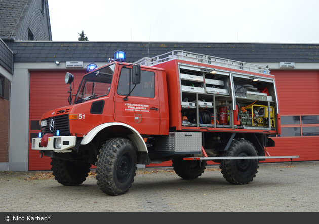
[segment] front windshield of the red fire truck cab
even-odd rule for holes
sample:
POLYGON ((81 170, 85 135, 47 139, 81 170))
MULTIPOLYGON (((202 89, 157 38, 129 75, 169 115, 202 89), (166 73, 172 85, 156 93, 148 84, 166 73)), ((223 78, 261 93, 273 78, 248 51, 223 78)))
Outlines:
POLYGON ((115 64, 95 70, 82 78, 74 103, 106 96, 110 92, 115 64))

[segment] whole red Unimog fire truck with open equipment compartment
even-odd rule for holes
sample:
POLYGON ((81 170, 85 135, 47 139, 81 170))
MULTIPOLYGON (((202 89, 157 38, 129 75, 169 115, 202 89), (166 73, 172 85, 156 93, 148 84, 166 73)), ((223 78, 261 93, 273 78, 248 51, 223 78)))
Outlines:
POLYGON ((69 105, 43 114, 32 149, 52 159, 62 185, 79 185, 96 165, 108 195, 131 187, 137 164, 172 161, 178 176, 202 175, 220 163, 232 184, 248 184, 280 134, 275 77, 268 67, 185 51, 135 63, 117 51, 109 64, 87 66, 69 105), (73 100, 74 98, 74 100, 73 100))

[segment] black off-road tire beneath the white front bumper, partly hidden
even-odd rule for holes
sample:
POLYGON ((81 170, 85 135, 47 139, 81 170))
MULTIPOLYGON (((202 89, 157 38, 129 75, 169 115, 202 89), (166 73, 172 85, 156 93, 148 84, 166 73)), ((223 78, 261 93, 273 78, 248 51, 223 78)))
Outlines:
POLYGON ((90 172, 90 163, 52 159, 51 170, 55 180, 65 186, 82 184, 90 172))

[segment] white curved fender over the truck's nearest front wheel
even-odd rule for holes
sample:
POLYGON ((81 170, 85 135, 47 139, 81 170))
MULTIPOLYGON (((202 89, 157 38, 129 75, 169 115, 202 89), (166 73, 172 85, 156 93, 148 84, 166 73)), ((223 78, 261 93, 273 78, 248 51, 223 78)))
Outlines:
POLYGON ((143 137, 140 135, 140 133, 137 130, 135 130, 133 127, 131 127, 130 125, 127 125, 124 123, 119 123, 119 122, 105 123, 105 124, 101 124, 99 126, 96 126, 92 130, 90 130, 89 133, 87 133, 87 135, 83 136, 83 139, 82 139, 80 144, 86 145, 86 144, 90 143, 92 141, 92 139, 97 135, 97 133, 99 133, 101 130, 103 130, 107 127, 111 127, 111 126, 124 126, 128 129, 130 129, 133 134, 128 135, 128 136, 129 136, 130 140, 133 142, 133 144, 137 147, 137 150, 148 153, 145 141, 144 141, 143 137))

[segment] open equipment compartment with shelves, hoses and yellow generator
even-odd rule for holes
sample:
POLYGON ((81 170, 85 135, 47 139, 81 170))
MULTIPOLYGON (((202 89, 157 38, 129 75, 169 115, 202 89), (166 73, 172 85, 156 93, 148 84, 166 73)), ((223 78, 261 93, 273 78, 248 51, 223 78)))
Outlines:
POLYGON ((182 126, 207 128, 264 129, 276 128, 275 85, 271 78, 231 73, 183 64, 181 83, 182 126), (274 100, 274 101, 272 101, 274 100), (254 105, 254 106, 252 106, 254 105), (255 105, 267 115, 252 111, 255 105), (268 109, 269 108, 269 109, 268 109), (258 117, 259 116, 259 117, 258 117))

